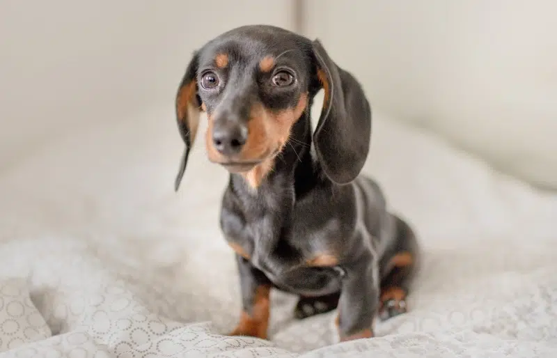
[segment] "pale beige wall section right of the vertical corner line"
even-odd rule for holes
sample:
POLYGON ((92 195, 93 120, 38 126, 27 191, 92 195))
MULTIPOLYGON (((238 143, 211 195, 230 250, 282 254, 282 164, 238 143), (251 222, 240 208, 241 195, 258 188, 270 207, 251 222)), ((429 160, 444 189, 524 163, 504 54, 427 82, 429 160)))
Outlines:
POLYGON ((557 188, 557 2, 307 0, 375 107, 557 188))

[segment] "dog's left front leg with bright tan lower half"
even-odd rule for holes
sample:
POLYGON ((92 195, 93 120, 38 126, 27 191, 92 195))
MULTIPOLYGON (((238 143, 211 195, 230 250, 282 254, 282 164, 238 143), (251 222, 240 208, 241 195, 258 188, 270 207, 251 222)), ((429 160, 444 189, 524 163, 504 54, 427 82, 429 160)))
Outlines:
POLYGON ((267 339, 271 282, 249 260, 236 255, 236 261, 240 274, 242 313, 240 322, 229 335, 267 339))

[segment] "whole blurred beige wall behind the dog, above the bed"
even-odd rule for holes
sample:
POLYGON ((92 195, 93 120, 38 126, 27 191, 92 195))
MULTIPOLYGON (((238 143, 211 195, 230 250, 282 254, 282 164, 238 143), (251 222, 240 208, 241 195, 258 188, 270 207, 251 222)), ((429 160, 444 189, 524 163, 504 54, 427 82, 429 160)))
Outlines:
POLYGON ((320 38, 376 109, 556 189, 556 12, 551 0, 3 0, 0 170, 53 134, 171 106, 196 47, 262 23, 320 38))

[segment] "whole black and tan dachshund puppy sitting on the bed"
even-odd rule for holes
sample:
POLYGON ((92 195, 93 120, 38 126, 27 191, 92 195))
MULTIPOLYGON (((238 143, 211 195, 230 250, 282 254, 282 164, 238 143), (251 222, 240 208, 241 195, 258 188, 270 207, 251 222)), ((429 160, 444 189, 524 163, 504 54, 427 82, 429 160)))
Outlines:
POLYGON ((240 26, 194 52, 175 97, 185 173, 201 112, 210 162, 229 173, 220 228, 235 251, 242 312, 230 335, 267 339, 269 292, 299 296, 295 317, 337 309, 340 341, 374 336, 407 312, 418 269, 413 229, 360 175, 372 112, 319 39, 240 26), (324 92, 320 118, 310 109, 324 92))

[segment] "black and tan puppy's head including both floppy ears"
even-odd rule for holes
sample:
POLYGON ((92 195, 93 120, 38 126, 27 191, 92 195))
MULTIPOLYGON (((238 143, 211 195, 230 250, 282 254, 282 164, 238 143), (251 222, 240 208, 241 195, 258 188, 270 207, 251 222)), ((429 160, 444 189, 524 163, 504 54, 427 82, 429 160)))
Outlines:
POLYGON ((191 59, 176 96, 186 144, 176 189, 201 111, 209 120, 210 161, 256 186, 320 88, 325 99, 315 152, 327 176, 344 184, 361 171, 370 142, 370 107, 354 77, 329 59, 319 41, 273 26, 242 26, 208 42, 191 59))

